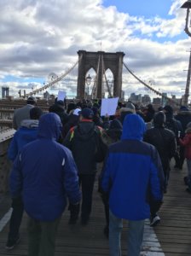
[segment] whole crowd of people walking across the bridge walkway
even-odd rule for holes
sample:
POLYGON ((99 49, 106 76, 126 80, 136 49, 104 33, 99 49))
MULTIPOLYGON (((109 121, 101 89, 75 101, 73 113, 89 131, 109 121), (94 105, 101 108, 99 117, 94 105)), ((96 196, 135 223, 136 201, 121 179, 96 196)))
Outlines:
POLYGON ((101 116, 101 101, 55 100, 49 113, 35 98, 14 112, 14 137, 8 156, 13 161, 9 184, 13 212, 7 249, 20 241, 25 210, 28 255, 52 256, 61 214, 68 224, 89 223, 96 176, 105 209, 104 233, 111 256, 121 255, 123 219, 129 220, 128 255, 140 255, 144 220, 159 224, 159 208, 167 193, 171 159, 182 169, 191 193, 191 112, 170 105, 154 109, 119 102, 113 116, 101 116), (97 163, 102 162, 101 172, 97 163), (98 173, 98 174, 97 174, 98 173), (68 203, 67 203, 68 202, 68 203))

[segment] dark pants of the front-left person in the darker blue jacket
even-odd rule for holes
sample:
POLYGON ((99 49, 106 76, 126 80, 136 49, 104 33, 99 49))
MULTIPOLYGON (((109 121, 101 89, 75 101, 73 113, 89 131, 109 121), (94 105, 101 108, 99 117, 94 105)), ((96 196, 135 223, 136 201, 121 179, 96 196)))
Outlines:
POLYGON ((54 256, 55 236, 61 217, 53 221, 28 220, 28 256, 54 256))

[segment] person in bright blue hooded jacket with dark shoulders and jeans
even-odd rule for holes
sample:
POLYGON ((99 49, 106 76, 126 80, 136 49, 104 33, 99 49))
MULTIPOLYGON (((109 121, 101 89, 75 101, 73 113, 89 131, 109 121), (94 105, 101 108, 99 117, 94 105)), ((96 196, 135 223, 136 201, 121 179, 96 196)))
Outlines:
POLYGON ((141 252, 144 220, 150 217, 151 201, 163 199, 164 174, 153 145, 142 142, 143 119, 130 113, 124 119, 121 141, 109 147, 101 187, 109 193, 110 256, 121 255, 123 218, 129 220, 128 255, 141 252))

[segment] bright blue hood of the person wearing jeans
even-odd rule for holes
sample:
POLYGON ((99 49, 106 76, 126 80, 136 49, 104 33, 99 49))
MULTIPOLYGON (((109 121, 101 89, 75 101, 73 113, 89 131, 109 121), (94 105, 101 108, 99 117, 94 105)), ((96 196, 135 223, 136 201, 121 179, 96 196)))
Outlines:
POLYGON ((136 113, 125 116, 121 140, 142 140, 146 125, 142 117, 136 113))

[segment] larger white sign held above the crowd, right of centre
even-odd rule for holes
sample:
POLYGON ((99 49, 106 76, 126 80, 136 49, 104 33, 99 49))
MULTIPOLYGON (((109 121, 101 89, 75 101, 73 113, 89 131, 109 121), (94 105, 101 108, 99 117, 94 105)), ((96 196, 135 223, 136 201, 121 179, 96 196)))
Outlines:
POLYGON ((118 107, 119 97, 101 99, 101 116, 114 115, 118 107))

